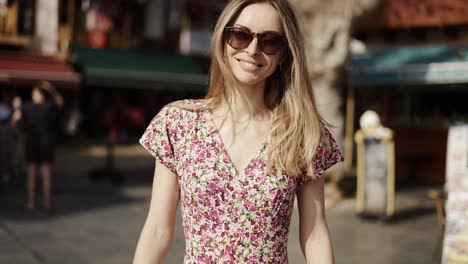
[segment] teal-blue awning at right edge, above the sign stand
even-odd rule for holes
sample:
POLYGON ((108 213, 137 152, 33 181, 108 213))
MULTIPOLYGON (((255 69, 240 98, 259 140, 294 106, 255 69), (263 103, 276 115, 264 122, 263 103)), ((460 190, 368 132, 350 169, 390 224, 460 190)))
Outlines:
POLYGON ((468 83, 468 46, 373 49, 349 66, 357 86, 468 83))

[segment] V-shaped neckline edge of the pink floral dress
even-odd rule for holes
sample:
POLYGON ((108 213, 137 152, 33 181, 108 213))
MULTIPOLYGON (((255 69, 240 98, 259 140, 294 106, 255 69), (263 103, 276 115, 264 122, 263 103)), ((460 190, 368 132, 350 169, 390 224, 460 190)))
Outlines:
POLYGON ((231 158, 231 155, 229 154, 229 152, 227 151, 227 148, 226 148, 226 145, 224 144, 224 140, 223 138, 221 137, 221 133, 219 131, 219 128, 218 126, 216 125, 216 122, 214 120, 214 117, 213 117, 213 112, 210 108, 207 108, 207 115, 208 115, 208 120, 212 126, 212 129, 213 129, 213 132, 214 134, 216 134, 216 139, 218 140, 218 143, 221 147, 221 152, 222 154, 226 157, 226 159, 228 160, 229 162, 229 165, 230 167, 232 167, 236 173, 236 175, 240 176, 242 174, 245 173, 245 171, 250 167, 250 165, 255 161, 257 160, 263 153, 263 151, 267 148, 268 146, 268 143, 270 142, 270 133, 268 133, 268 135, 266 136, 266 138, 262 141, 262 143, 260 144, 260 146, 257 148, 257 150, 255 152, 252 152, 252 154, 250 154, 250 157, 249 159, 247 160, 247 162, 245 164, 241 164, 242 167, 241 168, 238 168, 236 167, 236 165, 234 164, 232 158, 231 158))

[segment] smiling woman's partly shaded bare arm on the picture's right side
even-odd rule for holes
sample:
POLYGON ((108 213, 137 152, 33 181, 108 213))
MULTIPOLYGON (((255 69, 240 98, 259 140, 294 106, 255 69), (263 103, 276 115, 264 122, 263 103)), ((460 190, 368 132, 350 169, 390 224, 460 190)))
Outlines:
POLYGON ((324 182, 312 180, 297 192, 299 239, 307 264, 334 263, 333 247, 325 220, 324 182))

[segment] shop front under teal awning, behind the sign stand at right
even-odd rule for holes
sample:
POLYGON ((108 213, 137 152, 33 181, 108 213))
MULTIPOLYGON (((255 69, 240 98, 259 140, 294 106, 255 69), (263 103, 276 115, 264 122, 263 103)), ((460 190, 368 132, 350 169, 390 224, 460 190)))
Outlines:
POLYGON ((397 186, 443 184, 448 127, 468 120, 468 46, 373 49, 349 66, 347 131, 376 111, 395 133, 397 186))

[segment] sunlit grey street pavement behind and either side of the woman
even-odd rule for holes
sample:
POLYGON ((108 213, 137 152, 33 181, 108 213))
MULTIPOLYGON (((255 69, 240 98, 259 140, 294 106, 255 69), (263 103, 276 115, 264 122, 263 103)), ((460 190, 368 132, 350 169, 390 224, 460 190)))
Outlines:
MULTIPOLYGON (((89 171, 104 164, 103 148, 59 149, 51 215, 21 210, 24 188, 19 179, 13 179, 9 189, 2 186, 0 263, 131 263, 147 214, 154 160, 137 145, 120 146, 115 153, 117 167, 125 175, 121 186, 107 179, 92 183, 88 178, 89 171)), ((180 221, 178 215, 165 263, 183 262, 180 221)), ((357 217, 352 199, 332 203, 327 221, 338 264, 432 263, 439 227, 423 189, 397 192, 393 222, 357 217)), ((304 263, 297 212, 290 230, 289 262, 304 263)))

